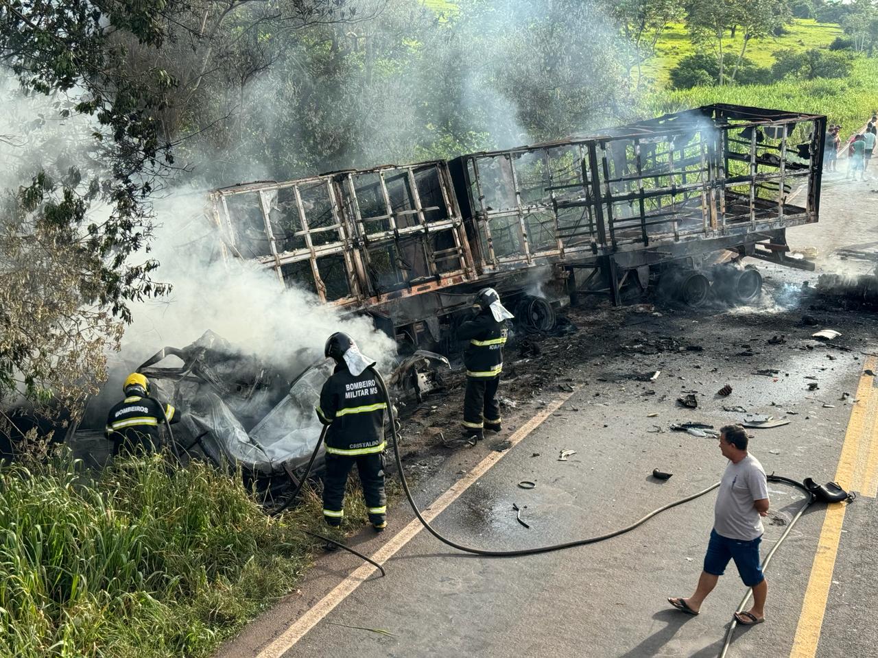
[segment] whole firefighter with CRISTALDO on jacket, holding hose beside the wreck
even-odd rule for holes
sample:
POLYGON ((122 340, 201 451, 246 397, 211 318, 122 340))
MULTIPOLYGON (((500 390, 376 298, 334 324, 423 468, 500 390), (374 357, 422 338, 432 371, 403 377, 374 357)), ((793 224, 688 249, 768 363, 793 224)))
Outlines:
POLYGON ((376 375, 375 361, 360 353, 347 333, 332 334, 324 349, 335 361, 335 371, 320 390, 317 417, 329 426, 326 434, 326 478, 323 519, 337 527, 344 518, 344 487, 350 468, 363 483, 369 520, 376 532, 387 526, 385 497, 385 411, 387 401, 376 375))

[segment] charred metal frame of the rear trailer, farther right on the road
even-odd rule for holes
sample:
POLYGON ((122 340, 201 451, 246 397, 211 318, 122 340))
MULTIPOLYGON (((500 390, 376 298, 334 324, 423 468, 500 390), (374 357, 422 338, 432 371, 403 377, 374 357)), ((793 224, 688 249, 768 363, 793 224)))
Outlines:
POLYGON ((825 117, 715 104, 601 136, 450 162, 483 275, 550 262, 631 275, 731 249, 787 258, 789 226, 817 221, 825 117), (788 203, 804 191, 805 205, 788 203))

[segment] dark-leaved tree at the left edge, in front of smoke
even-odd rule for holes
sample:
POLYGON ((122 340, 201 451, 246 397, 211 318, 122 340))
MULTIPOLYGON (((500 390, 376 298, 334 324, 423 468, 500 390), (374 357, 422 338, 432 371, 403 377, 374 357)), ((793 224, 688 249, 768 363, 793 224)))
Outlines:
POLYGON ((129 75, 119 44, 126 33, 160 46, 163 6, 0 0, 0 60, 25 91, 54 98, 55 120, 88 118, 91 132, 72 158, 28 152, 30 133, 40 132, 32 118, 17 135, 21 152, 6 175, 24 184, 7 192, 0 228, 0 400, 16 389, 35 400, 76 397, 85 361, 100 373, 103 348, 130 318, 127 304, 164 291, 150 279, 157 263, 133 258, 151 232, 148 194, 172 163, 155 112, 174 81, 160 68, 129 75), (96 202, 99 218, 88 215, 96 202))

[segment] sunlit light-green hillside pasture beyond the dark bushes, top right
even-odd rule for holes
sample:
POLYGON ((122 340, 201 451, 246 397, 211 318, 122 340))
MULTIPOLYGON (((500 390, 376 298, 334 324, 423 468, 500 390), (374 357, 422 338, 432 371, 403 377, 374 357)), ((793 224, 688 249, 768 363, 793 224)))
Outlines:
MULTIPOLYGON (((774 63, 775 51, 785 48, 807 50, 829 46, 833 39, 842 34, 840 25, 817 23, 813 18, 795 18, 792 25, 787 25, 787 30, 788 33, 780 37, 752 39, 747 45, 745 57, 761 67, 770 67, 774 63)), ((737 56, 743 44, 744 37, 738 32, 735 39, 724 40, 723 49, 737 56)), ((689 40, 686 27, 682 24, 669 25, 656 44, 656 56, 644 64, 643 83, 653 87, 666 85, 670 70, 680 59, 694 52, 695 47, 689 40)))

